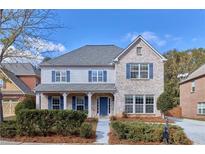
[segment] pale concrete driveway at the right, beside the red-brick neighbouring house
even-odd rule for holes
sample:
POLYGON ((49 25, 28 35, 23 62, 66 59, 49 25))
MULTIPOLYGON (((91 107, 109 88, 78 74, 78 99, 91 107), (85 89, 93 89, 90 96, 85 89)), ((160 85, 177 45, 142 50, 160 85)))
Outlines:
POLYGON ((205 121, 171 118, 175 124, 182 127, 193 144, 205 144, 205 121))

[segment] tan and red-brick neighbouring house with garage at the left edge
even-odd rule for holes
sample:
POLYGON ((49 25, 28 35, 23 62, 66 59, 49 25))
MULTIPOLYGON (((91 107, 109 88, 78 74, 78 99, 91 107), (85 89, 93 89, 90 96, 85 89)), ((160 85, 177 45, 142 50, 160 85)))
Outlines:
POLYGON ((0 68, 4 115, 13 115, 15 105, 25 95, 34 95, 40 83, 40 71, 30 63, 3 63, 0 68))

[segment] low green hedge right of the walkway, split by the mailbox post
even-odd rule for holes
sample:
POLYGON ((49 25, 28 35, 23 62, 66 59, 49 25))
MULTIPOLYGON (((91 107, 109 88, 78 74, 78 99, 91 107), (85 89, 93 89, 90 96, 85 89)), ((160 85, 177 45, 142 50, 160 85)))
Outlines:
MULTIPOLYGON (((148 124, 143 122, 120 122, 111 123, 114 133, 119 139, 127 139, 134 142, 163 142, 163 125, 148 124)), ((181 127, 169 126, 170 144, 191 144, 181 127)))

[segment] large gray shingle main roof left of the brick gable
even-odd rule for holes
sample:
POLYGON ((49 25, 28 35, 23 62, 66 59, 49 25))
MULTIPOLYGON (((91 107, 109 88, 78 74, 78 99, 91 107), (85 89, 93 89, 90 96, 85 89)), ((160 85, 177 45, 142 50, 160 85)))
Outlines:
POLYGON ((41 66, 103 66, 111 65, 122 48, 115 45, 85 45, 62 56, 43 62, 41 66))

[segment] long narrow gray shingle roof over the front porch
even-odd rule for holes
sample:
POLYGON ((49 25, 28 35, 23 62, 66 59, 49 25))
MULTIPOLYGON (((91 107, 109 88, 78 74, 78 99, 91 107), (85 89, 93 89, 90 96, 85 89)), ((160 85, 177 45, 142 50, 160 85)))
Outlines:
POLYGON ((79 92, 79 91, 109 91, 114 92, 115 84, 39 84, 36 92, 79 92))

